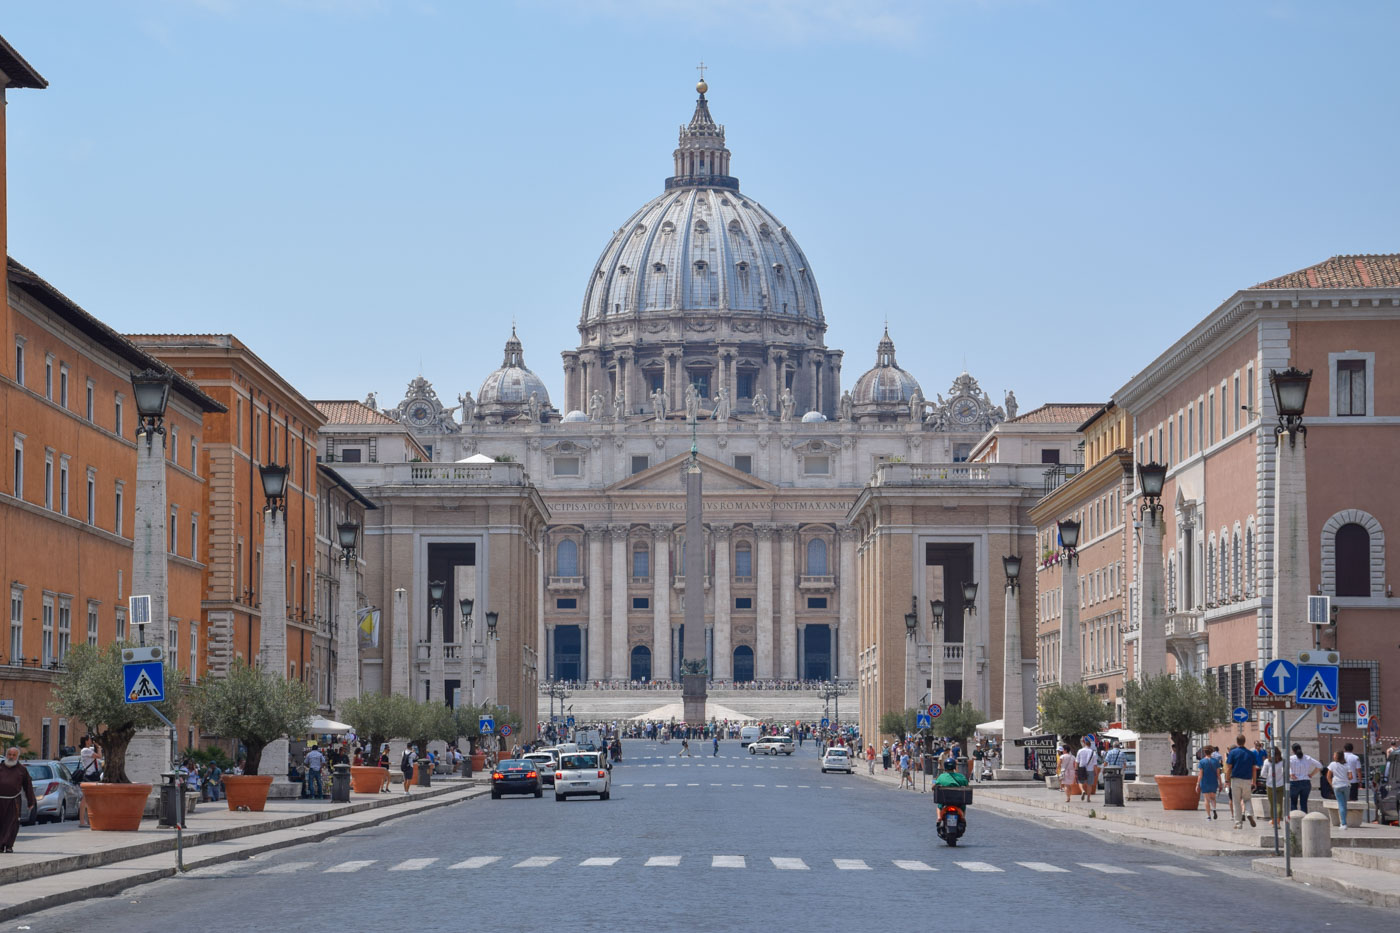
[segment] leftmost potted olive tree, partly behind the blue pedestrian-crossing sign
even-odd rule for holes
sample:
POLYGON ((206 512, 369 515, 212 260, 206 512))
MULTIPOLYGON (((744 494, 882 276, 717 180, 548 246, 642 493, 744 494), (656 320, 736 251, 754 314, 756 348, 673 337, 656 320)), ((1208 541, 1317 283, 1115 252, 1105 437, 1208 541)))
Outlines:
POLYGON ((70 720, 80 720, 102 749, 102 780, 83 783, 88 822, 94 829, 140 829, 151 785, 132 783, 126 776, 126 748, 137 731, 165 728, 155 709, 174 720, 179 706, 181 674, 168 661, 162 703, 126 702, 123 647, 130 646, 122 642, 104 649, 73 646, 67 670, 59 675, 53 689, 53 710, 70 720))

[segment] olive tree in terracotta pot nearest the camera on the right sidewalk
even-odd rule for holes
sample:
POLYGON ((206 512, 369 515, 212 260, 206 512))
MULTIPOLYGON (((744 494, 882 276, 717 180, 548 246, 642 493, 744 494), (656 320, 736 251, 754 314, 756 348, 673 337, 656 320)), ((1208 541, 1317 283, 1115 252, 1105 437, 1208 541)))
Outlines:
POLYGON ((1203 677, 1162 674, 1128 681, 1123 688, 1124 716, 1138 733, 1166 733, 1172 738, 1172 773, 1154 775, 1163 810, 1196 810, 1196 776, 1190 741, 1229 721, 1229 700, 1203 677))

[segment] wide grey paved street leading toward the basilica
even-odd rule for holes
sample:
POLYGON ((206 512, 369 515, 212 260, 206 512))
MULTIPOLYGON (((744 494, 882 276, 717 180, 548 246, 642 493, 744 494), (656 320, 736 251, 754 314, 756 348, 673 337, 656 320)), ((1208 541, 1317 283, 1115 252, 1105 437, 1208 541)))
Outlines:
POLYGON ((963 843, 949 849, 934 835, 930 797, 822 775, 812 745, 791 758, 753 756, 738 742, 722 744, 718 758, 707 747, 694 758, 678 751, 679 742, 629 741, 610 801, 482 797, 21 923, 144 933, 221 918, 220 927, 412 923, 456 933, 535 922, 755 930, 777 920, 805 933, 921 925, 930 911, 955 930, 994 918, 1037 929, 1095 918, 1133 930, 1232 918, 1235 929, 1270 933, 1389 922, 1228 859, 1119 845, 976 806, 963 843))

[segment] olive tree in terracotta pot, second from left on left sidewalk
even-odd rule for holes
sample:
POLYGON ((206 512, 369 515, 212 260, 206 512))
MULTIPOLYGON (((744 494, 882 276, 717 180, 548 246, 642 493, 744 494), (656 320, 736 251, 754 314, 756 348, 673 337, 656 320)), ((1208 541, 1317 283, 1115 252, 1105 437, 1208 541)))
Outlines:
POLYGON ((301 681, 235 661, 227 677, 192 691, 192 712, 204 731, 242 744, 244 773, 224 775, 224 794, 230 810, 258 811, 267 804, 273 780, 258 773, 263 749, 283 735, 304 734, 316 700, 301 681))

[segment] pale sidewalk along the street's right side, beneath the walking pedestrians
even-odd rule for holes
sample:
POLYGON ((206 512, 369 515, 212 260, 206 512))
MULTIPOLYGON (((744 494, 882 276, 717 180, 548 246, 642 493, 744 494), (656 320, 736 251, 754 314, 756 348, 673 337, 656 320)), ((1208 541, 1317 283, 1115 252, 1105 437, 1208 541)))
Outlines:
MULTIPOLYGON (((857 766, 855 773, 892 790, 899 787, 899 770, 883 770, 878 758, 874 775, 867 772, 864 762, 857 766)), ((920 789, 924 787, 923 778, 914 775, 914 783, 920 789)), ((1284 877, 1284 859, 1273 855, 1273 828, 1259 817, 1267 810, 1263 797, 1253 799, 1259 825, 1249 827, 1246 822, 1243 828, 1235 829, 1228 806, 1221 808, 1218 821, 1207 821, 1204 811, 1162 810, 1156 800, 1130 800, 1126 807, 1105 807, 1100 793, 1093 803, 1078 797, 1065 803, 1063 792, 1049 790, 1040 782, 988 780, 973 783, 972 787, 974 808, 1089 832, 1116 842, 1172 849, 1182 855, 1243 857, 1247 862, 1235 863, 1240 869, 1284 877)), ((1282 829, 1280 845, 1285 845, 1282 829)), ((1400 906, 1400 831, 1378 824, 1345 832, 1333 827, 1331 845, 1330 859, 1292 859, 1292 881, 1375 906, 1400 906)))

